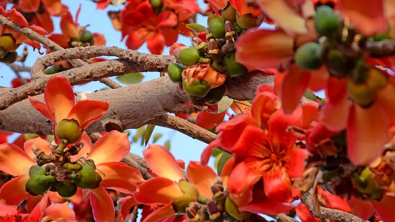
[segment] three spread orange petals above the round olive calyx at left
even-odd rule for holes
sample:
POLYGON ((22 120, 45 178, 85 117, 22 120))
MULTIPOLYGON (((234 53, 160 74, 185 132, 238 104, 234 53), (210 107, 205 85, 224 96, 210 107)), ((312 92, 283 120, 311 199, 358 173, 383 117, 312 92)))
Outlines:
POLYGON ((54 74, 45 87, 45 103, 31 96, 29 101, 55 126, 62 119, 75 119, 79 123, 80 130, 99 119, 108 110, 110 104, 95 100, 82 100, 75 104, 74 97, 73 87, 67 78, 54 74))

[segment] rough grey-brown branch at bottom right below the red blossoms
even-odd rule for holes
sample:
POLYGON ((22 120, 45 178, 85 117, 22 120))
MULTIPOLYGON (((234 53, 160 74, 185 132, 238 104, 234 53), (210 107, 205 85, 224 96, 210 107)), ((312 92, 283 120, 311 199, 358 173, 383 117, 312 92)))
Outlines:
MULTIPOLYGON (((300 197, 300 200, 309 209, 310 214, 314 215, 312 196, 310 192, 303 193, 302 196, 300 197)), ((319 211, 320 211, 320 216, 319 216, 320 219, 333 219, 339 222, 369 222, 369 221, 364 221, 353 214, 344 211, 326 208, 326 207, 320 207, 319 211)), ((314 216, 316 217, 316 215, 314 216)))

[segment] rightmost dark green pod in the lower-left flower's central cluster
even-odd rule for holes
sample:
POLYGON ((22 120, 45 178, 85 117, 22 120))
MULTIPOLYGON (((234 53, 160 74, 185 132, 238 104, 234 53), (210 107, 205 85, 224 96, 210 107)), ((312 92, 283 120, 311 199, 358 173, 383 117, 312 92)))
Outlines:
POLYGON ((102 178, 96 173, 96 166, 93 160, 88 159, 82 166, 82 170, 74 174, 72 182, 81 189, 94 189, 99 187, 102 178))

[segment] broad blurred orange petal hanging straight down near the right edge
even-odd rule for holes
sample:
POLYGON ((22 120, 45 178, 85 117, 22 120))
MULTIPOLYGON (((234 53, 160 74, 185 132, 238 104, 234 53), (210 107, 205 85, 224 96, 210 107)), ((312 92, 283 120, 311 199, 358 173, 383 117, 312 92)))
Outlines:
POLYGON ((363 109, 354 105, 347 125, 347 153, 356 165, 369 165, 384 150, 388 142, 390 121, 378 103, 363 109))

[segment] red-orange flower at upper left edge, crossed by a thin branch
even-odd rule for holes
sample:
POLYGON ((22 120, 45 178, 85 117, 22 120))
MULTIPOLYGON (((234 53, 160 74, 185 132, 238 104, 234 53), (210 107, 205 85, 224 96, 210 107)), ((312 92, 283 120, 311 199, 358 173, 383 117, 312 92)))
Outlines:
MULTIPOLYGON (((3 7, 0 7, 0 14, 7 17, 7 19, 16 22, 22 27, 29 27, 33 31, 37 32, 42 36, 48 35, 48 33, 39 26, 29 26, 23 15, 16 11, 15 9, 10 9, 5 11, 3 7)), ((21 33, 0 25, 0 35, 1 35, 1 48, 7 52, 15 51, 23 42, 31 45, 33 48, 38 48, 40 50, 41 45, 38 41, 30 40, 28 37, 22 35, 21 33)))

